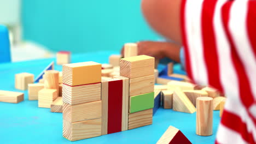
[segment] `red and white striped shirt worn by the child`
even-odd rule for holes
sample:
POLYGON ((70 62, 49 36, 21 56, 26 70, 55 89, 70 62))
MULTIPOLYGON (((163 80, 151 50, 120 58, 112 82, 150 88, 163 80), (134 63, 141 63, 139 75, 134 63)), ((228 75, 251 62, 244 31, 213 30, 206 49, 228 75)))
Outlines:
POLYGON ((183 0, 188 75, 224 92, 216 143, 256 143, 256 1, 183 0))

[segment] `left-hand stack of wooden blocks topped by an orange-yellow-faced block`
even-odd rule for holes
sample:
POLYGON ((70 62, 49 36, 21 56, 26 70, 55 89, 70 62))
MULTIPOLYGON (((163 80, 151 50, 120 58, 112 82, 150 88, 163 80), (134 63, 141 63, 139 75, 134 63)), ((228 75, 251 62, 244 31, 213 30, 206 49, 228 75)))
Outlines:
POLYGON ((70 141, 100 136, 101 64, 66 64, 63 74, 63 137, 70 141))

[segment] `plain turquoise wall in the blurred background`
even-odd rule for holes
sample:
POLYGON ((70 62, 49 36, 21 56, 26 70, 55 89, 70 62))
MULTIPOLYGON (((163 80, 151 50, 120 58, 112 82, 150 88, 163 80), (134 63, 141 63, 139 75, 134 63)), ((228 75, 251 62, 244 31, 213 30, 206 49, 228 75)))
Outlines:
POLYGON ((158 40, 138 0, 22 0, 23 38, 52 51, 119 51, 127 42, 158 40))

